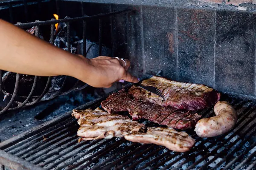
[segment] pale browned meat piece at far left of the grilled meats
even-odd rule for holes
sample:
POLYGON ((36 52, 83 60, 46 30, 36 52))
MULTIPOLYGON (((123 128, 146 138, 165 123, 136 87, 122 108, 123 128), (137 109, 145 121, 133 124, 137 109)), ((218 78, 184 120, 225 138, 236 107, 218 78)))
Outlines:
POLYGON ((85 111, 73 110, 72 115, 78 120, 80 128, 77 135, 80 140, 111 139, 122 137, 122 133, 145 130, 145 125, 132 121, 128 116, 108 114, 100 108, 85 111))

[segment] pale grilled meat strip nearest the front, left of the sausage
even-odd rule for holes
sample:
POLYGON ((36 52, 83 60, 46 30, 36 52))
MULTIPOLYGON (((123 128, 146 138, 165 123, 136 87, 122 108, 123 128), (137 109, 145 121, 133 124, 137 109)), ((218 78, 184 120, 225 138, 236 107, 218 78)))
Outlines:
POLYGON ((125 134, 131 142, 158 144, 176 152, 185 152, 194 146, 195 140, 185 132, 177 132, 172 127, 148 127, 147 133, 125 134))

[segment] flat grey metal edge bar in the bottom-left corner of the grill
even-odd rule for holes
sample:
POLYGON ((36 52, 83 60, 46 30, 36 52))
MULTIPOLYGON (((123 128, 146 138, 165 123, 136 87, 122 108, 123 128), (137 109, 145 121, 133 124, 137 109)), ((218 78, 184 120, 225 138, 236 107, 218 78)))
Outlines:
POLYGON ((28 170, 44 170, 42 167, 31 164, 30 162, 6 153, 3 150, 0 150, 0 164, 3 164, 13 170, 20 170, 20 167, 28 170))

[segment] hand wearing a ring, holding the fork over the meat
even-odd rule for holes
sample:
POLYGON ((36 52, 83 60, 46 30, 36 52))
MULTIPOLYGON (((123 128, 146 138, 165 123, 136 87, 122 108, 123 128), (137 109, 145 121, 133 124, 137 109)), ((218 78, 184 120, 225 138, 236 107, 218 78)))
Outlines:
POLYGON ((130 61, 128 59, 125 59, 125 63, 123 60, 118 60, 113 57, 99 56, 93 59, 86 59, 83 56, 80 57, 86 60, 90 73, 87 73, 86 77, 79 79, 86 82, 88 85, 97 88, 110 88, 113 82, 117 82, 121 79, 127 82, 139 82, 137 77, 128 72, 128 68, 130 67, 130 61))

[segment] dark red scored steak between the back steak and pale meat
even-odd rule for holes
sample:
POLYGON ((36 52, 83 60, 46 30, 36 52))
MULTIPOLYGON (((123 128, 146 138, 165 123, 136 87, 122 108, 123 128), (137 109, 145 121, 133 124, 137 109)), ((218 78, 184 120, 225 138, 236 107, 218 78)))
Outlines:
POLYGON ((124 90, 111 94, 102 101, 101 105, 110 114, 128 111, 133 120, 145 118, 160 125, 183 130, 194 127, 201 118, 190 111, 179 111, 170 106, 163 107, 148 101, 133 99, 124 90))

